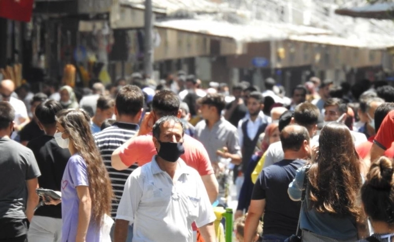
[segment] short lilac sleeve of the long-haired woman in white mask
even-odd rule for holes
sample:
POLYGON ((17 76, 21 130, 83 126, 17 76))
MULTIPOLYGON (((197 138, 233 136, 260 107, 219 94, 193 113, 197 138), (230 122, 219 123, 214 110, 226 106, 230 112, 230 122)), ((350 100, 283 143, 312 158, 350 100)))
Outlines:
POLYGON ((77 155, 72 156, 68 161, 70 163, 70 177, 74 187, 78 186, 89 186, 89 180, 87 176, 87 166, 84 159, 77 155))

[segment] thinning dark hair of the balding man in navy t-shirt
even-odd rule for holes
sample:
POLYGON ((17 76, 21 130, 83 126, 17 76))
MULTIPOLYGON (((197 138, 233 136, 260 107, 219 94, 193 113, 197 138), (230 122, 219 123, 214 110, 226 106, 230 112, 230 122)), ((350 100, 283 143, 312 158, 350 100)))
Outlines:
POLYGON ((305 140, 309 142, 308 130, 299 125, 286 126, 280 132, 280 142, 282 143, 283 151, 299 151, 305 140))

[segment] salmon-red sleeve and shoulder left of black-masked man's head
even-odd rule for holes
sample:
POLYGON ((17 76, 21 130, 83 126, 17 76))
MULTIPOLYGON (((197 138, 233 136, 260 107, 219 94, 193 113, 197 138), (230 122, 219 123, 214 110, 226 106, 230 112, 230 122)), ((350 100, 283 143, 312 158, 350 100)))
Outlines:
POLYGON ((142 166, 150 162, 156 153, 152 136, 142 135, 133 138, 131 143, 120 152, 119 157, 127 166, 131 166, 134 163, 142 166))

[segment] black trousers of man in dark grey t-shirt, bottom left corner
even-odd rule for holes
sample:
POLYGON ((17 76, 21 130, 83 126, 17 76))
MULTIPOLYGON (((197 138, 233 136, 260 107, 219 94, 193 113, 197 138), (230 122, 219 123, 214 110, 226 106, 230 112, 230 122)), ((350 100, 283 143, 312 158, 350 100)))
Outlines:
POLYGON ((26 218, 0 218, 0 242, 27 242, 29 225, 26 218))

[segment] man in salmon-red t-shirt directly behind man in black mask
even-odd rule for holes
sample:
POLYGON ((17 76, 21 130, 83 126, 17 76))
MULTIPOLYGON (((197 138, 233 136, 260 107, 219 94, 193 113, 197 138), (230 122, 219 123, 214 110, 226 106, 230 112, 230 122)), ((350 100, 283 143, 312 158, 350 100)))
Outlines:
MULTIPOLYGON (((179 98, 174 92, 168 90, 158 92, 152 101, 153 110, 151 113, 145 114, 137 135, 116 149, 112 154, 112 167, 123 170, 134 163, 142 166, 150 162, 152 157, 157 154, 151 133, 153 124, 162 116, 173 115, 180 117, 181 110, 179 106, 179 98)), ((181 155, 181 159, 188 166, 199 172, 207 189, 209 199, 213 203, 218 196, 218 182, 207 150, 201 142, 188 135, 184 135, 183 139, 185 153, 181 155)))

